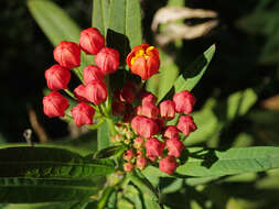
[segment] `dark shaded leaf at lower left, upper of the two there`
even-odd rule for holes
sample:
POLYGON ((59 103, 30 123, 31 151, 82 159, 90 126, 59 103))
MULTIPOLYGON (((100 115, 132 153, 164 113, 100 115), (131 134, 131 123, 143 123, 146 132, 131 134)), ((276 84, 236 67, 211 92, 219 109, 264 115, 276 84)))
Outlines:
POLYGON ((53 147, 8 147, 0 150, 0 177, 93 178, 115 170, 110 160, 85 160, 53 147))

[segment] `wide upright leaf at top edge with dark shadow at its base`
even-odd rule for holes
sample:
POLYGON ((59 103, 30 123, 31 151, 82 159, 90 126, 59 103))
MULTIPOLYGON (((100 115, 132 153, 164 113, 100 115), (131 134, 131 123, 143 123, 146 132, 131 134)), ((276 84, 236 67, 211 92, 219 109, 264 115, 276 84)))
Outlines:
POLYGON ((112 0, 108 25, 107 43, 119 51, 124 64, 130 48, 142 40, 139 0, 112 0))

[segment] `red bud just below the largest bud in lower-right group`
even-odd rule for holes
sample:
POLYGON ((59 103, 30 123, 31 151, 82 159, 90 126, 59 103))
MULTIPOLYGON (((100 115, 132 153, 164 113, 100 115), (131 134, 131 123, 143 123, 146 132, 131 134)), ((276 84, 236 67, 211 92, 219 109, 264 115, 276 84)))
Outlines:
POLYGON ((164 150, 164 143, 155 138, 150 138, 146 142, 147 156, 162 156, 164 150))

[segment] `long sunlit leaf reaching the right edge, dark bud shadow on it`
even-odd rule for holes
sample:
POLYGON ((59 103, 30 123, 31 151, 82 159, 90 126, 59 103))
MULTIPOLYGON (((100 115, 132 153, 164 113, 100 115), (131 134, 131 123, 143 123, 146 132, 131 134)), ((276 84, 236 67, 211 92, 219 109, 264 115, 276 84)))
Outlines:
MULTIPOLYGON (((187 151, 184 155, 185 163, 176 168, 173 177, 225 176, 279 167, 279 147, 275 146, 237 147, 226 151, 192 147, 187 151)), ((148 166, 143 174, 170 177, 153 166, 148 166)))

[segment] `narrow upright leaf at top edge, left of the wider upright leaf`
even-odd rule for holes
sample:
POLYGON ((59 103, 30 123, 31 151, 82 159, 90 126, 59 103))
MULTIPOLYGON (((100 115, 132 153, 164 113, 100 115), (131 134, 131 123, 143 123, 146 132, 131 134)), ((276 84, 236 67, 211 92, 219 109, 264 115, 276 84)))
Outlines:
POLYGON ((93 0, 92 26, 97 28, 106 37, 110 0, 93 0))

